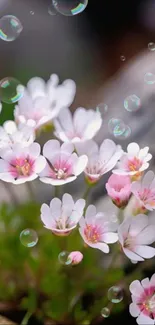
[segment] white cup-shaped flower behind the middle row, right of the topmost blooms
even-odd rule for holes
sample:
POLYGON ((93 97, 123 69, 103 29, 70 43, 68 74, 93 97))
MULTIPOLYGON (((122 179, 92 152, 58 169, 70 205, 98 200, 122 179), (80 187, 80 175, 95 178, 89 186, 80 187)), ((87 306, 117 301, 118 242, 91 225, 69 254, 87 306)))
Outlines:
POLYGON ((92 139, 102 125, 99 111, 92 109, 77 108, 72 116, 68 108, 54 121, 55 135, 63 142, 80 142, 92 139))

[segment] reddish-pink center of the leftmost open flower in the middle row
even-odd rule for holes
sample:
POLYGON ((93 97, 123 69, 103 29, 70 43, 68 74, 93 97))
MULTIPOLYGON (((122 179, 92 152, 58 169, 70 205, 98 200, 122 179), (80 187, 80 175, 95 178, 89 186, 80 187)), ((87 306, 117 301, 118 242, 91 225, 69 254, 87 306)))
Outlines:
POLYGON ((33 171, 33 161, 27 159, 15 159, 11 162, 10 172, 17 178, 18 176, 30 176, 33 171))

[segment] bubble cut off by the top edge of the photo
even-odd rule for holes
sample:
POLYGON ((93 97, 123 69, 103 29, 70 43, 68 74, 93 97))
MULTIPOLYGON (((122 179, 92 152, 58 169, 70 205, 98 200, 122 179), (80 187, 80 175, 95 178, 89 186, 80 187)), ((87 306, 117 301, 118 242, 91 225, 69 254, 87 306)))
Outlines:
POLYGON ((52 0, 52 3, 60 14, 74 16, 85 10, 88 0, 52 0))

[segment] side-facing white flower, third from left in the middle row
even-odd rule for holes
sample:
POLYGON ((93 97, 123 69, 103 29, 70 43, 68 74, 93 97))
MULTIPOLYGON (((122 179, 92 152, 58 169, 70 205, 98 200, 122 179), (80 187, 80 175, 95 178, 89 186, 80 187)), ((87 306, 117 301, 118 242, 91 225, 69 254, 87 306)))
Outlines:
POLYGON ((78 154, 88 156, 88 164, 84 172, 90 183, 96 183, 102 175, 113 169, 123 154, 121 146, 110 139, 104 140, 100 148, 93 140, 77 143, 75 147, 78 154))

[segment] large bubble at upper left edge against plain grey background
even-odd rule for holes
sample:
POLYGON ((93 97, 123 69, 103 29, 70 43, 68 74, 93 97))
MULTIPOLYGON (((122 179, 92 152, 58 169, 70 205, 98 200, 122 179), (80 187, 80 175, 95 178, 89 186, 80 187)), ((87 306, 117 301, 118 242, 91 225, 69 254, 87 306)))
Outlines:
POLYGON ((0 19, 0 38, 3 41, 14 41, 22 32, 23 26, 15 16, 4 16, 0 19))

